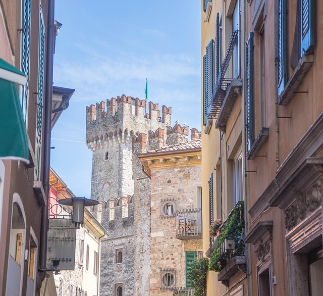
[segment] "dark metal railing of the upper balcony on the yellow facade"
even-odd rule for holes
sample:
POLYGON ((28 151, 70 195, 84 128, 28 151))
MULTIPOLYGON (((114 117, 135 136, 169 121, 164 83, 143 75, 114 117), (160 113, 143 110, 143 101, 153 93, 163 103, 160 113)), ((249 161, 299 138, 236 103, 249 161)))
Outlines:
POLYGON ((237 77, 226 77, 226 73, 230 64, 230 60, 233 55, 233 50, 237 44, 239 30, 234 31, 231 34, 230 41, 227 47, 226 56, 221 64, 219 74, 217 76, 216 85, 212 91, 212 102, 209 110, 209 116, 212 118, 218 118, 223 100, 226 96, 226 92, 230 83, 237 77))

